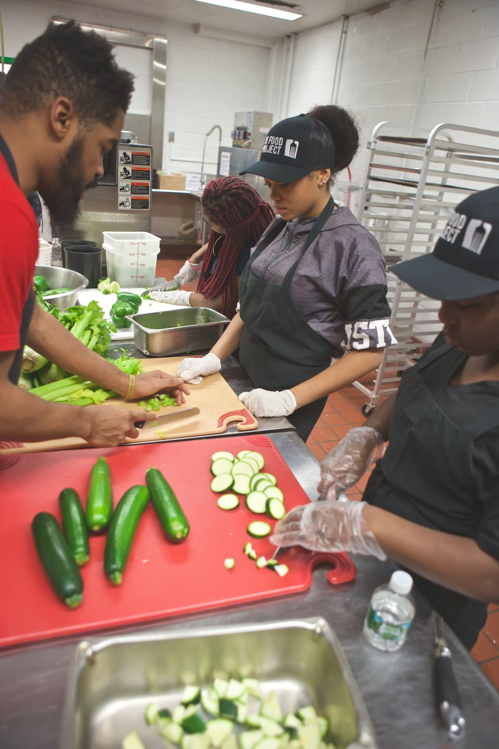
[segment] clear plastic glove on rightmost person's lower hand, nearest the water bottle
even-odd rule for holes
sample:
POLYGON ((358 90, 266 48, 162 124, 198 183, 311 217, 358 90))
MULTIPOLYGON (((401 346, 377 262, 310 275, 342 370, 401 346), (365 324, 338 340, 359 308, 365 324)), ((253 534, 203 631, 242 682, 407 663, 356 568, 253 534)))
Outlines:
POLYGON ((365 502, 310 502, 295 507, 275 524, 275 546, 302 546, 310 551, 365 554, 385 560, 386 554, 367 528, 365 502))

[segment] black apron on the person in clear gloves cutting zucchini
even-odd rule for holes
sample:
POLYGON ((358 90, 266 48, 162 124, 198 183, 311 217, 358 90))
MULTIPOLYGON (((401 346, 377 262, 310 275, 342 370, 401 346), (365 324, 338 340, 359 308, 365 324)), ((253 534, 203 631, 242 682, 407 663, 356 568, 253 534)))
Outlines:
MULTIPOLYGON (((472 504, 477 495, 477 477, 471 472, 474 440, 499 425, 499 408, 476 413, 469 401, 466 408, 465 393, 459 419, 456 413, 453 419, 453 413, 446 413, 441 407, 443 401, 438 398, 438 389, 447 387, 452 370, 455 372, 456 365, 464 360, 453 347, 438 345, 429 351, 424 362, 405 373, 390 425, 387 452, 373 470, 363 497, 395 515, 446 532, 444 521, 435 522, 430 506, 433 503, 439 513, 446 514, 447 510, 447 533, 453 533, 453 518, 469 517, 471 509, 477 513, 475 522, 480 519, 480 506, 472 504), (431 370, 427 369, 429 365, 431 370), (417 455, 418 445, 426 445, 420 455, 417 455), (417 492, 416 497, 411 488, 417 492), (420 497, 428 498, 426 507, 420 497)), ((471 518, 468 523, 468 533, 463 527, 462 535, 473 538, 476 526, 471 518)), ((432 607, 471 649, 486 622, 487 604, 432 583, 411 570, 408 572, 432 607)))

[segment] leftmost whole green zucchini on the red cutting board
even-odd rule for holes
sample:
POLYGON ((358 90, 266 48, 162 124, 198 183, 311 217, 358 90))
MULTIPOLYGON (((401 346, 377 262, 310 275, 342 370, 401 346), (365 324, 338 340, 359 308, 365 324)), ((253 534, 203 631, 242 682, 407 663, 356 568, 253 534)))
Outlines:
POLYGON ((31 523, 40 562, 52 587, 65 604, 76 608, 83 600, 83 580, 58 521, 39 512, 31 523))

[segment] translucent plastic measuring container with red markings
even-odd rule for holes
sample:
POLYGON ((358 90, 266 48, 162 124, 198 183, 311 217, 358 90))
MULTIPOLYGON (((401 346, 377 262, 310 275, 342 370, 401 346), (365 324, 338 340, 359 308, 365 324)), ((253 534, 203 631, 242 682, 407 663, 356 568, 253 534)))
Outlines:
POLYGON ((125 288, 154 284, 161 240, 147 231, 102 231, 108 276, 125 288))

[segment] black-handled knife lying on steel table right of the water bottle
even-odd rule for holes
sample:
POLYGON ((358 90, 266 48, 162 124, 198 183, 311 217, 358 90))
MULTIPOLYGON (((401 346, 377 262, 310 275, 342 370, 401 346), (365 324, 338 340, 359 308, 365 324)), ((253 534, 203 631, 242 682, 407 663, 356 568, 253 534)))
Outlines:
POLYGON ((433 677, 438 709, 449 739, 461 739, 465 735, 466 721, 461 712, 461 700, 452 667, 452 653, 444 633, 444 619, 436 611, 432 612, 433 634, 435 638, 435 661, 433 677))

